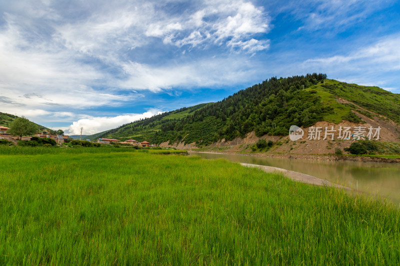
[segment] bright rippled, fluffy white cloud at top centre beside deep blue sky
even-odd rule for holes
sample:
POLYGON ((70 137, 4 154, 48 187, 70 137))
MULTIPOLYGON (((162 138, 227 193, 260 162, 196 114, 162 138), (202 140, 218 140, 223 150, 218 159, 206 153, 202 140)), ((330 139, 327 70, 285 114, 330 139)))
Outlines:
POLYGON ((205 1, 203 8, 151 23, 145 34, 178 47, 214 43, 244 52, 267 49, 251 36, 269 31, 269 17, 251 2, 205 1), (245 43, 245 45, 241 45, 245 43))

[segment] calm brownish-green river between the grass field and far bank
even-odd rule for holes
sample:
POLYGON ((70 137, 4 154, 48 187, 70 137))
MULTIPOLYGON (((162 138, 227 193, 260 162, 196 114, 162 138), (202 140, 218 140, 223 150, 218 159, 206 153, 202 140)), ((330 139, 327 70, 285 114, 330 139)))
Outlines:
POLYGON ((361 192, 383 196, 400 203, 400 164, 336 162, 265 158, 236 154, 189 152, 205 159, 224 158, 232 162, 279 167, 318 177, 361 192))

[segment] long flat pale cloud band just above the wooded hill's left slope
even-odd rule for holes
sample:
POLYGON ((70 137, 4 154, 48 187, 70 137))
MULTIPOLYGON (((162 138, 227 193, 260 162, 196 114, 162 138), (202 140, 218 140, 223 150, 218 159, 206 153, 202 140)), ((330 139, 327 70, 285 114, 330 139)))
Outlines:
MULTIPOLYGON (((242 82, 258 73, 252 67, 255 62, 246 61, 240 55, 227 58, 199 59, 195 62, 153 67, 137 62, 123 64, 127 79, 118 87, 148 89, 158 92, 171 87, 210 87, 242 82)), ((258 68, 258 71, 262 71, 258 68)))

